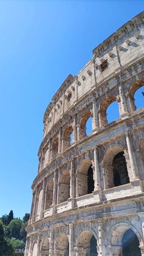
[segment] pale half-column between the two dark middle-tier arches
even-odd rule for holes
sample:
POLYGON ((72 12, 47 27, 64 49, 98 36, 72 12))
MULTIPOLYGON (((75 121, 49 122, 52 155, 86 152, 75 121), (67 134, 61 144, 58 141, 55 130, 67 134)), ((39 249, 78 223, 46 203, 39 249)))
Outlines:
POLYGON ((95 191, 98 190, 100 185, 100 172, 98 163, 98 147, 93 148, 94 164, 95 164, 95 191))

